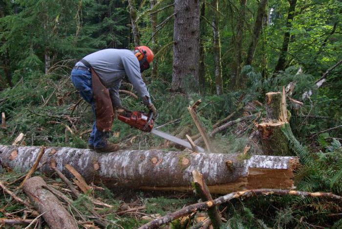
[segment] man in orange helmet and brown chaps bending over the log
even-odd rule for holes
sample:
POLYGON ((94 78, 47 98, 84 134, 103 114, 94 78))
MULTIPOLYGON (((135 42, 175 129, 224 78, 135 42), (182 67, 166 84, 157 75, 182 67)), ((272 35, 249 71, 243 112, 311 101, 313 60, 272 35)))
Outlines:
POLYGON ((114 110, 123 112, 119 97, 121 81, 127 76, 143 103, 153 112, 150 94, 141 78, 141 72, 150 67, 153 52, 147 46, 127 49, 104 49, 85 56, 71 71, 71 81, 83 99, 91 104, 95 121, 88 139, 90 149, 98 152, 114 152, 117 144, 107 141, 114 117, 114 110))

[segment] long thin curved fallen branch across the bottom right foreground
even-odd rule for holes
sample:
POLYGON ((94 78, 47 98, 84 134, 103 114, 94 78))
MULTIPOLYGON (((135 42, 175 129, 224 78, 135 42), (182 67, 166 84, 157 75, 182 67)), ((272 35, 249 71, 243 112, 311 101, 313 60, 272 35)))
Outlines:
POLYGON ((338 196, 332 193, 326 192, 303 192, 303 191, 295 191, 295 190, 282 190, 282 189, 252 189, 240 192, 233 192, 227 194, 225 196, 218 197, 213 201, 206 201, 202 203, 193 204, 190 206, 186 206, 178 211, 169 213, 165 216, 159 217, 150 221, 149 223, 141 226, 139 229, 152 229, 158 228, 161 225, 172 222, 175 219, 178 219, 182 216, 186 216, 191 214, 192 212, 196 212, 199 210, 207 210, 213 206, 220 205, 223 203, 227 203, 232 199, 246 199, 252 196, 257 195, 292 195, 292 196, 301 196, 301 197, 327 197, 334 200, 342 201, 342 196, 338 196))

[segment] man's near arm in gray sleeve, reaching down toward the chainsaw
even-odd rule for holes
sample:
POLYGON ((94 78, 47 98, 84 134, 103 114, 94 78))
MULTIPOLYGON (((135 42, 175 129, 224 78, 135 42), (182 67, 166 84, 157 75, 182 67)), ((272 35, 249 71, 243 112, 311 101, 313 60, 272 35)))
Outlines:
POLYGON ((138 59, 134 55, 127 55, 122 57, 122 63, 129 82, 133 85, 135 91, 143 100, 143 103, 145 105, 151 104, 150 93, 141 78, 138 59))

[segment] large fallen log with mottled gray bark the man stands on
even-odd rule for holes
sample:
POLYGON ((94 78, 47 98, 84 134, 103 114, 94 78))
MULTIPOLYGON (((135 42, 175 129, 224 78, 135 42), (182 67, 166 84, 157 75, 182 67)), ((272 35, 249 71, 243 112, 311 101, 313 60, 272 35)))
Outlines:
MULTIPOLYGON (((1 166, 27 171, 40 151, 36 146, 0 145, 1 166), (15 156, 11 155, 16 151, 15 156)), ((127 187, 165 191, 192 191, 192 170, 203 174, 211 193, 227 193, 244 188, 292 188, 296 157, 243 154, 203 154, 129 150, 100 154, 88 149, 46 148, 42 160, 56 161, 56 167, 67 177, 64 167, 73 166, 87 183, 105 183, 107 187, 127 187), (51 153, 53 152, 53 153, 51 153)), ((41 172, 54 170, 45 164, 41 172)))

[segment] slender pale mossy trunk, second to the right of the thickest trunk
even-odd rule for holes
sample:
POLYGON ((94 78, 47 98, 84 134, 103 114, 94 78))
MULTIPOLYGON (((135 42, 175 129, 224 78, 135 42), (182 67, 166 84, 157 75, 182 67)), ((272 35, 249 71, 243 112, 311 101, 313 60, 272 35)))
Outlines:
POLYGON ((214 12, 213 19, 213 49, 214 49, 214 62, 215 62, 215 83, 216 94, 222 94, 223 82, 222 82, 222 63, 221 63, 221 40, 219 32, 219 15, 218 15, 218 0, 214 0, 212 3, 214 12))

